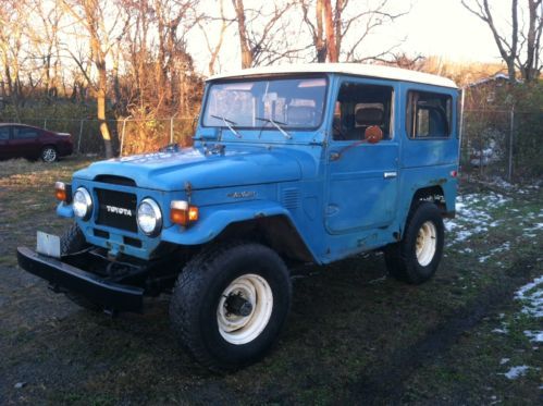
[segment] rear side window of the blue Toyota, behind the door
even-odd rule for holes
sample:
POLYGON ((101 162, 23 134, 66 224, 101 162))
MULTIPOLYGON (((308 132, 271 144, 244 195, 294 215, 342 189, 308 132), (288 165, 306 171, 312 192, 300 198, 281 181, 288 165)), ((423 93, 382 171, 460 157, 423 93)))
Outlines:
POLYGON ((406 130, 410 138, 451 136, 453 98, 449 95, 411 90, 407 98, 406 130))

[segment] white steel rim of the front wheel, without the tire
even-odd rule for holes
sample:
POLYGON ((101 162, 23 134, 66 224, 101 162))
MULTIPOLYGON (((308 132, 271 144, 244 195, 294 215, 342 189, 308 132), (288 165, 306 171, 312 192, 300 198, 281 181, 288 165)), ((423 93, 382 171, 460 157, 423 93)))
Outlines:
POLYGON ((217 308, 221 336, 243 345, 257 339, 266 329, 273 310, 273 294, 268 282, 254 273, 244 274, 224 290, 217 308))

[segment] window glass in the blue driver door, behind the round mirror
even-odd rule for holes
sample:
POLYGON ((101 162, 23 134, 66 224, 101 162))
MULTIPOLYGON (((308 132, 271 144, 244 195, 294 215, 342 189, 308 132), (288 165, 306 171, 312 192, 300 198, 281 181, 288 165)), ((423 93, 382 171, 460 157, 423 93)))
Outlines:
POLYGON ((362 140, 368 127, 378 126, 383 139, 390 139, 392 95, 388 86, 342 84, 334 110, 333 138, 362 140))

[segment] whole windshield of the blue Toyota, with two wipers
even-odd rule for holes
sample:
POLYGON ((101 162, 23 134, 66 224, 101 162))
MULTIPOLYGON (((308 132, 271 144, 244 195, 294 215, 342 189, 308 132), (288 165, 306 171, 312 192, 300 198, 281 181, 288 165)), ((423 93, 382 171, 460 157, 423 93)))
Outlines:
POLYGON ((209 88, 202 124, 280 131, 317 128, 325 94, 323 76, 215 83, 209 88))

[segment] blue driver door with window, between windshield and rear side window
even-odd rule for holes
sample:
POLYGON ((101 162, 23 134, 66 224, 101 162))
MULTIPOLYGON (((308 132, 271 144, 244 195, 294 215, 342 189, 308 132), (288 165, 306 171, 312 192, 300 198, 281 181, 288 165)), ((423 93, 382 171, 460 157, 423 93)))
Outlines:
POLYGON ((331 234, 385 227, 395 218, 398 140, 394 87, 381 81, 344 79, 336 98, 329 147, 325 226, 331 234), (378 127, 383 138, 365 139, 378 127))

